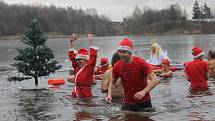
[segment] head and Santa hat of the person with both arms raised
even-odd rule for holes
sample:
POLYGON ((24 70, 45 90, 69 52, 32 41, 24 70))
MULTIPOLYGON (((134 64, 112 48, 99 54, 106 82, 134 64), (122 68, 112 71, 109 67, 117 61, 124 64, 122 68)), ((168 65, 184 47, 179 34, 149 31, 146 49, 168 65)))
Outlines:
POLYGON ((88 51, 86 49, 81 48, 78 50, 78 54, 75 57, 75 61, 77 62, 79 67, 83 67, 87 64, 89 59, 88 51))

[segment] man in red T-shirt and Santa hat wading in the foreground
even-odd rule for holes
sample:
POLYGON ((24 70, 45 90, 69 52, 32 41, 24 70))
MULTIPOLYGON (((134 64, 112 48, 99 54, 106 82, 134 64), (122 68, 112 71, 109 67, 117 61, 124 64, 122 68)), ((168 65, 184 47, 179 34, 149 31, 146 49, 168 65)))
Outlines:
MULTIPOLYGON (((117 48, 121 60, 118 61, 112 71, 112 80, 108 88, 111 92, 118 78, 121 78, 124 89, 123 111, 147 111, 152 110, 151 91, 159 81, 152 72, 146 61, 132 55, 133 42, 127 38, 123 39, 117 48), (147 78, 150 83, 147 82, 147 78)), ((108 93, 106 101, 112 102, 112 95, 108 93)))

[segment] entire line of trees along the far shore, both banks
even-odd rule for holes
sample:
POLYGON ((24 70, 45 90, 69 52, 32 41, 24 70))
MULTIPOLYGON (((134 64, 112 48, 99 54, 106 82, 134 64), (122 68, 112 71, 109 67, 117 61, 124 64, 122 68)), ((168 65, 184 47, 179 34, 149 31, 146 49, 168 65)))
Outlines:
POLYGON ((98 15, 94 8, 84 11, 72 7, 8 5, 0 1, 0 36, 22 34, 35 15, 44 32, 63 35, 215 33, 215 19, 211 10, 206 3, 200 6, 195 1, 192 20, 189 20, 187 11, 178 4, 161 10, 136 6, 123 22, 113 23, 107 16, 98 15))

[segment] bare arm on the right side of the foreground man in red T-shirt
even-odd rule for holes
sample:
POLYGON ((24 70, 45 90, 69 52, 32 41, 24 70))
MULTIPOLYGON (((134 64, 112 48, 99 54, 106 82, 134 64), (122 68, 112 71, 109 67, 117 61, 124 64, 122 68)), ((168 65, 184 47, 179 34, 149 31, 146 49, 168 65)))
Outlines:
POLYGON ((151 72, 148 75, 148 79, 150 80, 150 83, 146 86, 146 88, 144 88, 142 91, 137 92, 134 95, 135 99, 141 100, 145 96, 146 93, 148 93, 149 91, 151 91, 156 85, 159 84, 158 78, 154 74, 154 72, 151 72))

